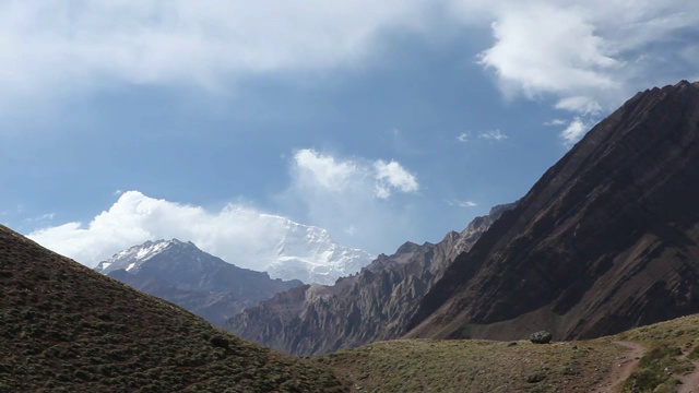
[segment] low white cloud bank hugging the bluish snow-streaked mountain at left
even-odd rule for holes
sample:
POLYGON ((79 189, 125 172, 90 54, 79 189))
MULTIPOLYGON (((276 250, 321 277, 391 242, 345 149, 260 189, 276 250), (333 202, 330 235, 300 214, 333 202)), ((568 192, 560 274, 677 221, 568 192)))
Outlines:
MULTIPOLYGON (((67 223, 35 230, 28 237, 91 267, 146 240, 177 238, 193 241, 238 266, 264 271, 277 257, 285 237, 297 230, 294 228, 283 217, 238 204, 211 212, 127 191, 86 225, 67 223)), ((311 236, 304 227, 298 230, 311 236)), ((296 245, 284 246, 287 253, 303 257, 294 253, 301 252, 293 250, 296 245)))

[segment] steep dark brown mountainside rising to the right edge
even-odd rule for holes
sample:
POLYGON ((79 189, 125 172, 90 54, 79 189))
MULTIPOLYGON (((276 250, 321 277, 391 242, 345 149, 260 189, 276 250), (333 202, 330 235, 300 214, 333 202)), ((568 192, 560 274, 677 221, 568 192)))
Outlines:
POLYGON ((407 336, 556 340, 699 311, 699 83, 593 128, 422 300, 407 336))

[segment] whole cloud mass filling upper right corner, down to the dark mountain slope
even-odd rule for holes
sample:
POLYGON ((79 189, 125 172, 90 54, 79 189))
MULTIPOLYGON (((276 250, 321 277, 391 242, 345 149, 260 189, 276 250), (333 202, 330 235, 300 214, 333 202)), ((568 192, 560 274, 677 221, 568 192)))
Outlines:
POLYGON ((503 1, 489 16, 495 44, 477 61, 509 98, 557 97, 574 116, 566 143, 637 91, 690 76, 674 64, 696 59, 696 43, 677 36, 699 33, 697 2, 503 1))

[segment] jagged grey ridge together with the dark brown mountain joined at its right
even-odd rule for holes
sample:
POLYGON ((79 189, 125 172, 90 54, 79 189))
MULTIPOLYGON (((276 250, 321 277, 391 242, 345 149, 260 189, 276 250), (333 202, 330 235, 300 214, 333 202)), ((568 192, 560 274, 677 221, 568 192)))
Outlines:
MULTIPOLYGON (((462 249, 406 243, 226 327, 293 354, 399 337, 556 340, 699 311, 699 83, 637 94, 462 249)), ((497 214, 499 215, 499 214, 497 214)))

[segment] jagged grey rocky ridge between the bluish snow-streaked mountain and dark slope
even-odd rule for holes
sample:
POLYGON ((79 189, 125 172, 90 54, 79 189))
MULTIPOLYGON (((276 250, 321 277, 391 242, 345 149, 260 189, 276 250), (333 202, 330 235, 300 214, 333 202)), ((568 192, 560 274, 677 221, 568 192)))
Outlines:
POLYGON ((296 287, 232 318, 226 329, 296 355, 328 353, 399 337, 446 266, 470 249, 510 205, 494 207, 437 245, 407 242, 334 286, 296 287))

